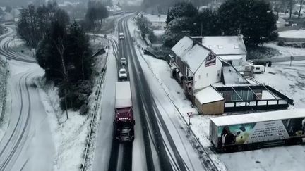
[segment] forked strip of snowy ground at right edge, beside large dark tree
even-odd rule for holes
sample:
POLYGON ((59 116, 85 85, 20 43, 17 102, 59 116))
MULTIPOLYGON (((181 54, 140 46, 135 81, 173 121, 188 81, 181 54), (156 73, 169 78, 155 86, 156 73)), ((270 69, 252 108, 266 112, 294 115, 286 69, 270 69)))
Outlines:
POLYGON ((273 58, 287 57, 287 56, 305 56, 304 48, 294 48, 287 46, 278 46, 276 42, 270 42, 264 44, 265 47, 276 49, 280 52, 280 55, 275 55, 273 58))

